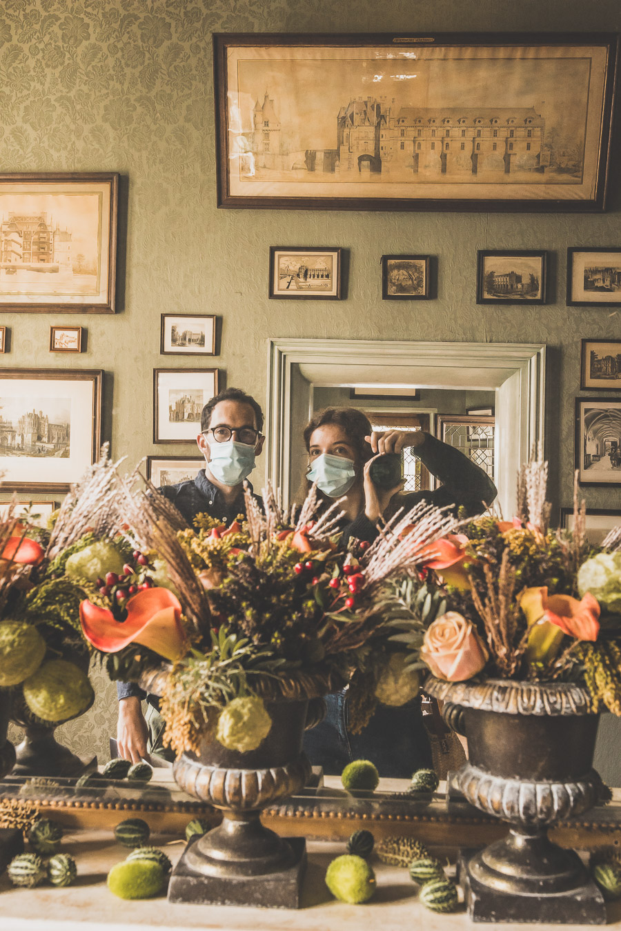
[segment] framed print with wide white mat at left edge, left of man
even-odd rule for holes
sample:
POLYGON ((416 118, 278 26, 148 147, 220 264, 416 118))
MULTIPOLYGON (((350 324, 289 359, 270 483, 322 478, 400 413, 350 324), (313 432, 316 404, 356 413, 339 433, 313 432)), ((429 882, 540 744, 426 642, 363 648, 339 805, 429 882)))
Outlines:
POLYGON ((68 492, 101 446, 102 371, 0 371, 3 492, 68 492))

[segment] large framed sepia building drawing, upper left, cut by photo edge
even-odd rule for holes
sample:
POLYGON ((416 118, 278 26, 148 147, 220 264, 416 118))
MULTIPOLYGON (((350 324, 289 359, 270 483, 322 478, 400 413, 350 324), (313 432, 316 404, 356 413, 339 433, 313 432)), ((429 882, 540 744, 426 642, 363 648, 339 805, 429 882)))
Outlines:
POLYGON ((118 174, 0 173, 0 311, 114 314, 118 174))

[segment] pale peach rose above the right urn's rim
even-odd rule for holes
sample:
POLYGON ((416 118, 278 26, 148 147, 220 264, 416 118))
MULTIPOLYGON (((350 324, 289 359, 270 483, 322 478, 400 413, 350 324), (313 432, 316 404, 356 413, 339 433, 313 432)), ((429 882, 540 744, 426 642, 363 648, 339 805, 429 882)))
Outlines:
POLYGON ((437 617, 425 632, 421 659, 438 679, 471 679, 485 666, 488 656, 475 628, 456 611, 437 617))

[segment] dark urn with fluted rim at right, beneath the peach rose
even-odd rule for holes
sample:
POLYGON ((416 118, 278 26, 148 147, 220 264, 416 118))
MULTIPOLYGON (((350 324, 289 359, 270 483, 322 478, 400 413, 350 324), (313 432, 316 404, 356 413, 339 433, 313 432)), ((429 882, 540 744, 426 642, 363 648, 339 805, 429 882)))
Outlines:
POLYGON ((466 735, 468 761, 456 781, 468 802, 508 822, 506 838, 461 851, 459 880, 479 922, 605 924, 601 892, 582 860, 547 837, 601 792, 592 768, 599 715, 575 683, 443 682, 425 691, 466 735))

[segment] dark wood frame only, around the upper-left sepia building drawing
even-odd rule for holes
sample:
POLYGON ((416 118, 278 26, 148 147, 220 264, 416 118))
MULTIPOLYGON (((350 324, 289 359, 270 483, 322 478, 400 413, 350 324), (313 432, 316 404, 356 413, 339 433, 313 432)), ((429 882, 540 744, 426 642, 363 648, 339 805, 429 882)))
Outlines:
POLYGON ((118 224, 118 179, 116 171, 13 171, 0 172, 0 191, 2 182, 109 182, 110 183, 110 237, 108 240, 108 301, 107 304, 10 304, 2 301, 0 297, 0 313, 11 311, 22 314, 114 314, 116 304, 116 236, 118 224))

